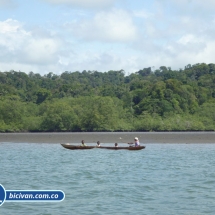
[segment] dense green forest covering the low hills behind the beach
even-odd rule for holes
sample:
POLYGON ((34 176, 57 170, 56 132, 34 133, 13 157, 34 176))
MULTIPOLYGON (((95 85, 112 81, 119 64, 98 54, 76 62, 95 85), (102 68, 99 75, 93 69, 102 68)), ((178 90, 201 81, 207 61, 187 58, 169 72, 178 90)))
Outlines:
POLYGON ((215 64, 0 72, 0 132, 214 130, 215 64))

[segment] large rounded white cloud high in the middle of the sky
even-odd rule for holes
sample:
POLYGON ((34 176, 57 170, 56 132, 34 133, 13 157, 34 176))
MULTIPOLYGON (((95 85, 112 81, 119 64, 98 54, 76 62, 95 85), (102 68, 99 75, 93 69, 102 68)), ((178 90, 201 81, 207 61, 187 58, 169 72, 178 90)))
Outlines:
POLYGON ((99 12, 93 19, 66 25, 72 33, 86 41, 129 42, 137 37, 132 17, 124 10, 99 12))

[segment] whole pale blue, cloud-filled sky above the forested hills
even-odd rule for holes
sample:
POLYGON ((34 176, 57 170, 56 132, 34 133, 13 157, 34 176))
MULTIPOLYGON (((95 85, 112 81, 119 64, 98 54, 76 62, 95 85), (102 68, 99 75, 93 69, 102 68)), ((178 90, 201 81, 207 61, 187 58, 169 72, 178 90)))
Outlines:
POLYGON ((0 71, 215 63, 214 0, 0 0, 0 71))

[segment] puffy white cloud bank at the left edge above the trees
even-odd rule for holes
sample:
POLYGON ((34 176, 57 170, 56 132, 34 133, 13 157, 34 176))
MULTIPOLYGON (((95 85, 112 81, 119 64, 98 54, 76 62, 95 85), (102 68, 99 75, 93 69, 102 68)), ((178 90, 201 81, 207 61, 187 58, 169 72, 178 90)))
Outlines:
POLYGON ((61 41, 26 31, 16 20, 0 22, 0 58, 4 63, 48 65, 58 61, 61 41))

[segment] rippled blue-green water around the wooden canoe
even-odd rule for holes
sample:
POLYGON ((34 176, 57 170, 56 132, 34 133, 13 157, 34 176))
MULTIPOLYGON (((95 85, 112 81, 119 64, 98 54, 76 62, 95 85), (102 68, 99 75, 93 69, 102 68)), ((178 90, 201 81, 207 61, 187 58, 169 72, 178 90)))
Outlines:
POLYGON ((62 190, 62 202, 5 202, 0 214, 215 214, 215 145, 146 144, 140 151, 0 143, 6 190, 62 190))

